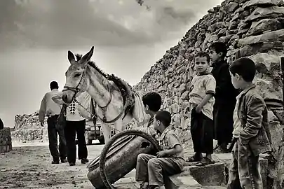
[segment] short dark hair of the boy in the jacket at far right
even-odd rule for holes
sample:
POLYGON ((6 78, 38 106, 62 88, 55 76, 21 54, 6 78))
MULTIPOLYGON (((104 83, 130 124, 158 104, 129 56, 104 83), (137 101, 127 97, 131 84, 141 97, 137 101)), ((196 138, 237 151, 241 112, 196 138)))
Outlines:
POLYGON ((236 76, 236 73, 238 73, 238 75, 242 76, 243 80, 247 82, 252 82, 252 80, 255 78, 256 70, 255 62, 249 58, 236 59, 229 66, 229 71, 231 71, 233 76, 236 76))

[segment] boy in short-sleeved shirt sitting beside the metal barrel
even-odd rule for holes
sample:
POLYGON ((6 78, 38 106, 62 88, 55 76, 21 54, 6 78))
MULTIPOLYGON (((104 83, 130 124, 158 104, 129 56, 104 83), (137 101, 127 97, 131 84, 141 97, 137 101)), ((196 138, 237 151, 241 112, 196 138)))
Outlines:
POLYGON ((136 181, 143 182, 141 188, 165 188, 163 174, 173 175, 182 172, 183 148, 175 132, 168 127, 171 119, 168 111, 158 111, 154 117, 153 126, 161 133, 158 143, 163 151, 159 151, 156 156, 143 153, 138 155, 136 181))

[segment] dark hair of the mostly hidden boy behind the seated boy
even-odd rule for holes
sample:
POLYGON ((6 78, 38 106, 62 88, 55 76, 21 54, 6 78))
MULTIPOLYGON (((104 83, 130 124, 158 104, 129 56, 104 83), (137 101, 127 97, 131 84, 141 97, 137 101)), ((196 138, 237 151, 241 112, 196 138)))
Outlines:
POLYGON ((148 92, 142 97, 144 106, 148 105, 151 111, 158 111, 162 105, 162 97, 156 92, 148 92))

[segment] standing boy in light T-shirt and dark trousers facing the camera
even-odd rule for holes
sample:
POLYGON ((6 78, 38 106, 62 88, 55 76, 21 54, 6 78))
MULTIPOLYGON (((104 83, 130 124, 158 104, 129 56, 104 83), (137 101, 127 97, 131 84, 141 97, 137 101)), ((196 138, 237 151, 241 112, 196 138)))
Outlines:
POLYGON ((208 73, 210 57, 206 52, 198 52, 195 57, 196 76, 191 80, 189 112, 191 112, 191 138, 195 154, 187 162, 212 163, 213 153, 213 106, 216 82, 208 73), (203 157, 202 153, 206 153, 203 157))

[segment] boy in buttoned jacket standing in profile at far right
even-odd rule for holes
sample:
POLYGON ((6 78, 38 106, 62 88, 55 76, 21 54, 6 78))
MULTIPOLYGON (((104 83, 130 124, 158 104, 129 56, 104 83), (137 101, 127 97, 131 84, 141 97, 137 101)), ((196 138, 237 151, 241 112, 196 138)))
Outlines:
POLYGON ((268 111, 264 100, 252 84, 255 62, 249 58, 237 59, 229 66, 231 82, 242 92, 237 97, 234 110, 233 162, 229 168, 228 189, 262 186, 259 154, 271 151, 268 111))

